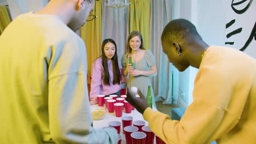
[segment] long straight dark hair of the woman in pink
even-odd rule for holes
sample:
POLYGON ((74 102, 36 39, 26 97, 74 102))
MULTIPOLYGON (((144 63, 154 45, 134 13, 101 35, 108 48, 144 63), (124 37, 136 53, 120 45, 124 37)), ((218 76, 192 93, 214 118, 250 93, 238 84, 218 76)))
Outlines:
POLYGON ((119 69, 119 65, 118 65, 117 44, 115 44, 115 41, 113 39, 104 39, 103 42, 102 42, 102 46, 101 46, 102 65, 103 65, 103 69, 104 69, 103 83, 104 83, 104 85, 110 85, 110 83, 109 83, 109 71, 108 71, 108 58, 106 57, 106 55, 104 53, 104 46, 107 43, 112 43, 112 44, 115 45, 115 54, 111 58, 112 67, 113 67, 113 76, 114 76, 112 83, 113 83, 113 85, 115 85, 115 84, 120 85, 121 74, 120 74, 120 69, 119 69))

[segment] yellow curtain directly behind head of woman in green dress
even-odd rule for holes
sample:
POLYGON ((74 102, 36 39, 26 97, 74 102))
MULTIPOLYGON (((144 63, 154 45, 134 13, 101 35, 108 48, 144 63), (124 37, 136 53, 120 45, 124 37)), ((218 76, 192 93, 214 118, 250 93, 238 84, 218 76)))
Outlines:
POLYGON ((149 49, 150 1, 130 0, 130 3, 130 32, 141 32, 144 47, 149 49))

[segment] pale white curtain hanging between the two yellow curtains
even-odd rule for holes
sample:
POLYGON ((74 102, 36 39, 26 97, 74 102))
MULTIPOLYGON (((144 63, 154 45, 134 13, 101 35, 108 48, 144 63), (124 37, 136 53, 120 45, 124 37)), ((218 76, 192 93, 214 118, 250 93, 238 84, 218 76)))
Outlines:
POLYGON ((126 40, 129 35, 129 7, 110 8, 102 3, 102 41, 113 39, 117 43, 118 61, 121 65, 121 57, 125 52, 126 40))

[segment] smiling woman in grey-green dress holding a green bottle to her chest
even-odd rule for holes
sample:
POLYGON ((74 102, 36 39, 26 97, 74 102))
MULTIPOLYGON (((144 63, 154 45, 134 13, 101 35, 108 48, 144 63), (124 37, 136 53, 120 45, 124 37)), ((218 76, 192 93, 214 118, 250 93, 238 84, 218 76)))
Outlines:
MULTIPOLYGON (((132 31, 127 39, 126 52, 122 57, 123 76, 129 75, 127 82, 128 87, 137 87, 142 94, 147 97, 148 86, 152 86, 149 76, 157 74, 155 58, 150 50, 146 50, 143 46, 143 38, 138 31, 132 31), (129 59, 132 57, 132 64, 129 59)), ((155 105, 155 97, 151 88, 153 97, 153 105, 155 105)))

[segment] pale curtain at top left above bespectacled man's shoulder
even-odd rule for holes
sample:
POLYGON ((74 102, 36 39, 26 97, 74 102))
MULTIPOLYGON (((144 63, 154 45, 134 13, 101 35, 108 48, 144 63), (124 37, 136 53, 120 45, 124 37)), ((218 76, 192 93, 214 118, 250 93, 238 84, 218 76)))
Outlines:
POLYGON ((39 11, 45 7, 49 0, 7 0, 11 18, 30 11, 39 11))

